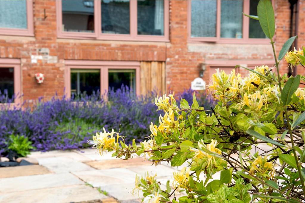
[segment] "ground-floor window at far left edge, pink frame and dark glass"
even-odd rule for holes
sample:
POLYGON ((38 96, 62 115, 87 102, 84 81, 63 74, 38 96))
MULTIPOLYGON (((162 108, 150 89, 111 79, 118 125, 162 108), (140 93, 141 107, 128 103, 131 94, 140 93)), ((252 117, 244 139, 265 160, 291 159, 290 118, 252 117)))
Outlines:
POLYGON ((3 103, 20 105, 20 80, 20 60, 0 59, 0 91, 7 96, 0 100, 0 107, 3 103))

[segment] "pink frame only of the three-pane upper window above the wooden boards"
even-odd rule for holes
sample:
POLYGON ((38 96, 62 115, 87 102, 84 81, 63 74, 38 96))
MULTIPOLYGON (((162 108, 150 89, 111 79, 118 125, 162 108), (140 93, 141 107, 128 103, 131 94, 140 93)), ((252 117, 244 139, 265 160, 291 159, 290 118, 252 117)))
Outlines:
POLYGON ((124 41, 169 41, 169 1, 164 0, 164 35, 138 35, 137 1, 130 1, 130 34, 102 33, 101 1, 94 1, 94 33, 65 32, 62 30, 62 3, 56 1, 57 37, 68 39, 124 40, 124 41))

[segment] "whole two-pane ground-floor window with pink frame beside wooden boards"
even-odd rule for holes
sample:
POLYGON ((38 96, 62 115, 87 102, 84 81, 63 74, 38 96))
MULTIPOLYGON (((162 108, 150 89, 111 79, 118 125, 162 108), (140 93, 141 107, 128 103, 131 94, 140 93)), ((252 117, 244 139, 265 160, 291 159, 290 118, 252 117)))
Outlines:
POLYGON ((66 60, 65 89, 67 96, 90 96, 122 85, 140 93, 140 62, 66 60))

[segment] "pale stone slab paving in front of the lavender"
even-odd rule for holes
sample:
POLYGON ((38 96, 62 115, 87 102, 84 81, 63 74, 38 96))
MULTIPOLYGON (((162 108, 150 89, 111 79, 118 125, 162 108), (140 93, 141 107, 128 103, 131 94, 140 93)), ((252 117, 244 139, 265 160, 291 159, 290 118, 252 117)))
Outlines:
POLYGON ((180 168, 158 165, 141 157, 122 160, 96 149, 32 152, 39 165, 0 168, 0 202, 6 203, 138 203, 135 175, 157 173, 161 188, 180 168))

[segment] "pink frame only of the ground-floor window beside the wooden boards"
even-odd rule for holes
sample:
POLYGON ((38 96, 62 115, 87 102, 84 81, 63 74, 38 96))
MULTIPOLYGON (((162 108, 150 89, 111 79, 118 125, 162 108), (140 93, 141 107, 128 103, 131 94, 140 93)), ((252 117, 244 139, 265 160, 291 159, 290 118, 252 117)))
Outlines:
POLYGON ((99 69, 101 76, 101 97, 108 91, 108 71, 109 69, 135 69, 135 89, 136 94, 140 95, 140 62, 139 61, 84 61, 66 60, 65 61, 65 95, 71 96, 71 69, 99 69))

